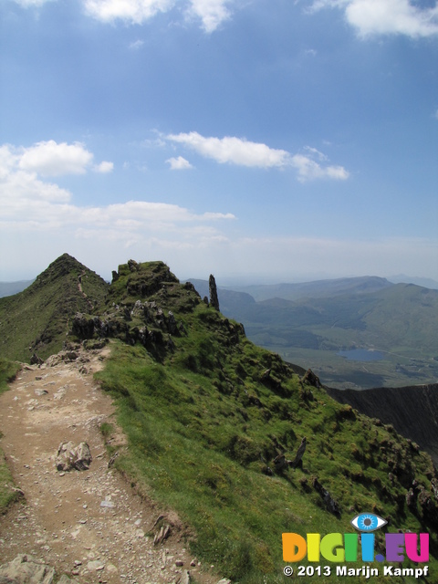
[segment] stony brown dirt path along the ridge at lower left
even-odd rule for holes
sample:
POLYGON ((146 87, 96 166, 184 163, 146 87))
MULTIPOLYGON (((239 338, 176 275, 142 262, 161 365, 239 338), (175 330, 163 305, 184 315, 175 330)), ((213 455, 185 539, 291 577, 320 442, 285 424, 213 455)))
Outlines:
POLYGON ((106 351, 26 366, 0 397, 1 446, 25 494, 23 504, 0 516, 0 564, 26 553, 83 584, 179 582, 185 570, 196 581, 217 582, 185 549, 176 516, 162 519, 171 536, 154 546, 153 525, 165 514, 108 467, 99 426, 114 423, 114 408, 92 377, 106 351), (57 471, 64 441, 89 443, 89 470, 57 471))

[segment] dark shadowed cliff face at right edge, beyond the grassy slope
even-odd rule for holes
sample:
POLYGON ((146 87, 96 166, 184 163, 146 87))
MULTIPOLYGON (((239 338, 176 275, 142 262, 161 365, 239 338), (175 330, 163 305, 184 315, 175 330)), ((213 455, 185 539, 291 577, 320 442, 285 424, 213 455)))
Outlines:
POLYGON ((438 383, 364 391, 327 388, 327 391, 340 403, 348 403, 371 418, 391 423, 397 432, 431 454, 438 466, 438 383))

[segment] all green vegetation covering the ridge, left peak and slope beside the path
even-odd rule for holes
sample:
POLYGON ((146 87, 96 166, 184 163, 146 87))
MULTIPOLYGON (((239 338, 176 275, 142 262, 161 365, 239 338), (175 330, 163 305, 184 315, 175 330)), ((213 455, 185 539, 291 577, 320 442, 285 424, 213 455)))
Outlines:
MULTIPOLYGON (((162 262, 130 260, 110 287, 86 270, 61 256, 23 293, 3 299, 0 328, 12 332, 2 354, 23 358, 30 345, 44 357, 43 351, 60 348, 67 330, 89 347, 113 339, 98 378, 129 440, 114 464, 141 492, 178 512, 193 533, 188 545, 204 564, 235 583, 288 581, 282 533, 349 533, 353 516, 372 512, 389 521, 376 533, 379 551, 387 529, 430 533, 430 581, 438 579, 438 482, 428 454, 391 425, 333 401, 278 354, 257 348, 241 325, 207 306, 162 262), (302 464, 276 468, 276 456, 293 459, 304 436, 302 464), (413 480, 417 498, 408 506, 413 480)), ((368 314, 356 318, 349 308, 358 323, 368 314)), ((287 311, 284 318, 287 325, 287 311)), ((347 319, 342 327, 348 329, 347 319)), ((106 423, 100 432, 110 443, 115 430, 106 423)), ((115 454, 117 446, 109 447, 115 454)), ((0 480, 10 498, 10 477, 0 480)), ((342 580, 318 578, 321 584, 342 580)))

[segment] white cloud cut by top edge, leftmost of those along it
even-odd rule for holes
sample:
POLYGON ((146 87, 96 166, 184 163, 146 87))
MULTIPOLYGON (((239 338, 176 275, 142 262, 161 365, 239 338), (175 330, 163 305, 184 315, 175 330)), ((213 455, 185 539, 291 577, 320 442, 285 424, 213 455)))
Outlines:
POLYGON ((125 22, 141 25, 159 12, 167 12, 175 0, 85 0, 85 10, 102 22, 125 22))

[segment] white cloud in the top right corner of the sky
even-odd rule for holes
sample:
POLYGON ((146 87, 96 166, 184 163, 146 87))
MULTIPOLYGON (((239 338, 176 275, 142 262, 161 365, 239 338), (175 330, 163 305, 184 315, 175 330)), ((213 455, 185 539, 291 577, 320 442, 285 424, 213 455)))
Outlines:
POLYGON ((316 0, 311 10, 337 7, 345 10, 360 36, 438 35, 438 5, 420 7, 411 0, 316 0))

